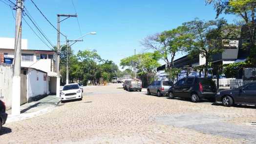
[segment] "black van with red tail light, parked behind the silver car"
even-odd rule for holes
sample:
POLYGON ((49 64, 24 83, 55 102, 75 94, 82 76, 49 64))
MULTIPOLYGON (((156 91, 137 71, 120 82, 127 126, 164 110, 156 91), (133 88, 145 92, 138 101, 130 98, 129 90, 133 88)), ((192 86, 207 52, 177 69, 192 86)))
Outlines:
POLYGON ((216 85, 210 78, 183 78, 168 90, 169 98, 191 99, 196 103, 201 99, 215 102, 216 85))

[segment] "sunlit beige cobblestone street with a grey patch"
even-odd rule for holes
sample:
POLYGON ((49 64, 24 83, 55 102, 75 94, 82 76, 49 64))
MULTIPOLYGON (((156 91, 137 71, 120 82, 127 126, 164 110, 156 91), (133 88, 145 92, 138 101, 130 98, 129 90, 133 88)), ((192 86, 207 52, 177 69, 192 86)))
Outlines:
POLYGON ((122 84, 84 92, 83 101, 3 125, 0 144, 256 144, 255 106, 171 100, 122 84))

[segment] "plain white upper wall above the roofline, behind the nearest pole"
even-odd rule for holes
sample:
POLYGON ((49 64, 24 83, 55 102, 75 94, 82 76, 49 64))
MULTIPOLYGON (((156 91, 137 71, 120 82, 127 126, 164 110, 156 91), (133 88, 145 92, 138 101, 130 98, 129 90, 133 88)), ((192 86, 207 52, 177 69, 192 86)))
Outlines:
MULTIPOLYGON (((14 38, 0 38, 0 48, 14 49, 14 38)), ((21 49, 27 49, 27 40, 21 40, 21 49)))

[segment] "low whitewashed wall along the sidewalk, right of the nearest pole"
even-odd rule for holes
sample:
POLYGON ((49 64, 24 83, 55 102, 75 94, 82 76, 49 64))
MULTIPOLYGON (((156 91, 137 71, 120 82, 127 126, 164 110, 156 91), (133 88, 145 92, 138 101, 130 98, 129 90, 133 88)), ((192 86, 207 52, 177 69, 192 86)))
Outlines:
POLYGON ((47 74, 35 69, 29 68, 27 73, 27 100, 33 100, 33 97, 49 94, 49 78, 47 74), (46 77, 46 80, 44 79, 46 77))

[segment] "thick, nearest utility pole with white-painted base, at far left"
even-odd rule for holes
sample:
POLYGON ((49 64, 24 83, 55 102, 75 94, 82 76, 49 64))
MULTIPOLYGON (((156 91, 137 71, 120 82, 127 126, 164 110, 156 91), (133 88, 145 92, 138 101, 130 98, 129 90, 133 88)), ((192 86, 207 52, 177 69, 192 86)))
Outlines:
POLYGON ((21 114, 21 15, 23 11, 23 0, 17 0, 16 4, 14 69, 12 84, 12 115, 21 114))

